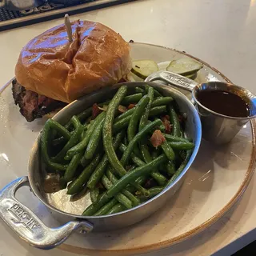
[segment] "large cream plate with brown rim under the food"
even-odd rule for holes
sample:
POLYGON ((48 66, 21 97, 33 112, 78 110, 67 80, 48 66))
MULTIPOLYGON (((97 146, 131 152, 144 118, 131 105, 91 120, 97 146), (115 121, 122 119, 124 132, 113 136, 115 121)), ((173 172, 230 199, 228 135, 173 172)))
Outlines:
MULTIPOLYGON (((177 58, 194 58, 162 46, 142 43, 131 43, 130 46, 134 59, 147 58, 161 63, 177 58)), ((218 70, 198 58, 194 59, 203 64, 202 70, 198 72, 198 82, 230 82, 218 70)), ((0 90, 1 187, 27 174, 30 148, 46 121, 46 118, 42 118, 26 122, 14 105, 9 84, 0 90)), ((211 146, 203 141, 181 189, 150 218, 123 230, 86 236, 73 234, 59 248, 97 256, 142 254, 182 242, 205 230, 230 210, 250 182, 256 154, 254 130, 255 122, 248 122, 226 146, 211 146)), ((58 226, 51 213, 28 190, 19 199, 30 206, 43 222, 58 226)))

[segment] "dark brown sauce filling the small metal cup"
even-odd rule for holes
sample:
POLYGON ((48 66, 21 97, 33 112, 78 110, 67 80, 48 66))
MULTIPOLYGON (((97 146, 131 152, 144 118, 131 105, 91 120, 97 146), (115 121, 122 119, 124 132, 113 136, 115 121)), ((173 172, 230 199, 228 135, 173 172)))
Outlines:
POLYGON ((250 116, 248 104, 237 94, 224 90, 200 90, 197 98, 203 106, 219 114, 234 118, 250 116))

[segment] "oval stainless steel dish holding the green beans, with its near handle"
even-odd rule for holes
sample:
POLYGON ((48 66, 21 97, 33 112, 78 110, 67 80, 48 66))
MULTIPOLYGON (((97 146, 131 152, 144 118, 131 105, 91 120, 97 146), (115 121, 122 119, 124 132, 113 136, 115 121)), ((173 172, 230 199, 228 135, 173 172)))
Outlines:
POLYGON ((54 196, 55 194, 45 194, 42 190, 42 182, 46 176, 46 173, 42 168, 42 158, 40 156, 40 150, 38 147, 38 142, 40 139, 39 135, 30 153, 28 177, 18 178, 0 191, 0 217, 21 238, 29 242, 30 245, 42 249, 49 249, 54 246, 58 246, 58 244, 62 243, 66 240, 66 238, 68 238, 72 231, 77 229, 80 229, 83 233, 85 233, 90 230, 113 230, 122 228, 124 226, 130 226, 160 209, 165 204, 166 200, 170 199, 170 197, 174 195, 178 188, 182 185, 186 172, 189 170, 192 162, 194 162, 196 154, 198 153, 202 130, 197 110, 194 108, 190 100, 178 90, 175 90, 170 86, 164 86, 154 82, 126 82, 106 88, 104 90, 99 90, 94 94, 90 94, 78 99, 59 111, 58 114, 54 116, 54 120, 62 124, 66 123, 74 114, 78 114, 88 106, 92 106, 94 102, 102 102, 113 96, 116 90, 118 90, 118 87, 122 85, 128 86, 129 90, 135 86, 154 86, 163 95, 171 96, 175 99, 181 112, 187 114, 185 133, 190 138, 193 138, 195 144, 194 152, 191 155, 190 161, 182 173, 170 186, 166 187, 162 193, 158 194, 149 201, 142 203, 140 206, 118 214, 99 217, 86 217, 81 216, 81 214, 82 210, 84 210, 86 206, 90 204, 90 200, 86 200, 86 198, 83 198, 80 201, 78 200, 76 202, 77 205, 72 207, 75 209, 75 211, 69 213, 67 212, 67 207, 70 206, 70 202, 67 198, 65 190, 58 192, 61 194, 58 194, 57 197, 54 196), (23 206, 22 203, 18 202, 18 200, 15 198, 15 192, 21 186, 30 186, 36 197, 51 210, 54 217, 58 218, 60 222, 67 223, 64 226, 54 229, 46 227, 31 210, 29 210, 26 206, 23 206), (20 225, 21 222, 23 225, 20 225))

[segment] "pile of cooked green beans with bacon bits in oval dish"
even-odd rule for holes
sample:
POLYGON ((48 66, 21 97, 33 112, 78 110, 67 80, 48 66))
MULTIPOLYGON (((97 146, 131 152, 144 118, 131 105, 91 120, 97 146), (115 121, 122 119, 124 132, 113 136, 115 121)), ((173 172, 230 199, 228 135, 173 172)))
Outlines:
MULTIPOLYGON (((58 191, 86 191, 82 215, 116 214, 161 193, 181 174, 194 149, 184 135, 186 118, 171 97, 153 87, 121 86, 62 126, 49 119, 40 138, 47 173, 58 191)), ((49 184, 48 184, 49 185, 49 184)))

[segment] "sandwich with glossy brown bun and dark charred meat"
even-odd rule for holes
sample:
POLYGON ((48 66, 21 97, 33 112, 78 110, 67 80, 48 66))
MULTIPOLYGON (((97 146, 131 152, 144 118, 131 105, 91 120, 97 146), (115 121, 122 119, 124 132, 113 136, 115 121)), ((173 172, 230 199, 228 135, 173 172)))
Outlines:
POLYGON ((75 99, 111 86, 130 72, 130 46, 98 22, 71 22, 38 35, 19 55, 13 80, 14 102, 28 122, 75 99))

